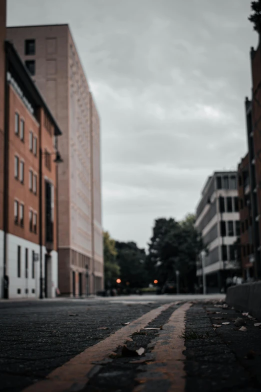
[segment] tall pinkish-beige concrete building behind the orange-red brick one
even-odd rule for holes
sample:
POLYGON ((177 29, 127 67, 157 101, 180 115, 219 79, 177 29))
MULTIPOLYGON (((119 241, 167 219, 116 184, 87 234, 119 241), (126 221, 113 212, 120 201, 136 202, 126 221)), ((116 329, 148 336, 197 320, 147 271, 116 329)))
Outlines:
POLYGON ((68 25, 7 28, 62 136, 58 149, 61 294, 103 288, 99 117, 68 25))

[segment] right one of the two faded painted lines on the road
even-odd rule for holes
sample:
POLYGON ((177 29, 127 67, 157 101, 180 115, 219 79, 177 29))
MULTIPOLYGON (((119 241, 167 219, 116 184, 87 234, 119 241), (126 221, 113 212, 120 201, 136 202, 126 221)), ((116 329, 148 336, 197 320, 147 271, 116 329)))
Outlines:
POLYGON ((161 392, 184 392, 185 371, 183 354, 184 339, 180 338, 185 329, 185 314, 191 306, 186 302, 169 317, 159 336, 153 340, 155 343, 152 353, 155 355, 153 362, 147 362, 144 373, 136 377, 139 383, 133 392, 147 392, 153 390, 155 385, 161 392))

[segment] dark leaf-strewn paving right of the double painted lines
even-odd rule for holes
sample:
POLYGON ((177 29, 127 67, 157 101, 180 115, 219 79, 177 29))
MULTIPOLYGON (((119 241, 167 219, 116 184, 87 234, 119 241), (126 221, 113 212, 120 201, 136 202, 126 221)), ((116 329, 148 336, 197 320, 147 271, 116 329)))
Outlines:
POLYGON ((186 392, 261 390, 261 330, 255 322, 220 302, 198 303, 188 310, 186 392), (239 326, 234 325, 237 317, 243 319, 239 326), (241 326, 246 330, 239 331, 241 326))

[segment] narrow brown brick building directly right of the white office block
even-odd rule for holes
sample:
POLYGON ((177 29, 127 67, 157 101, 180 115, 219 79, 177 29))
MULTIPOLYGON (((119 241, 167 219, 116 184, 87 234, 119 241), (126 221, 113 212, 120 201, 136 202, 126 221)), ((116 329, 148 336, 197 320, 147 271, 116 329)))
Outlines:
POLYGON ((251 208, 251 187, 249 176, 249 154, 247 153, 238 165, 238 200, 240 219, 240 260, 244 280, 254 276, 253 260, 253 226, 251 208))

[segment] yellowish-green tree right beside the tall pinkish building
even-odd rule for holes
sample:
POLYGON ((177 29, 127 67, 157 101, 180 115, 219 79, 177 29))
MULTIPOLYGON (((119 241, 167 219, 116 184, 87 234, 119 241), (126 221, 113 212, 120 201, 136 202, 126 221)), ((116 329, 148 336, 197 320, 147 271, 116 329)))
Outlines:
POLYGON ((107 231, 103 232, 103 259, 105 288, 113 287, 120 275, 120 267, 117 264, 117 251, 115 241, 110 238, 107 231))

